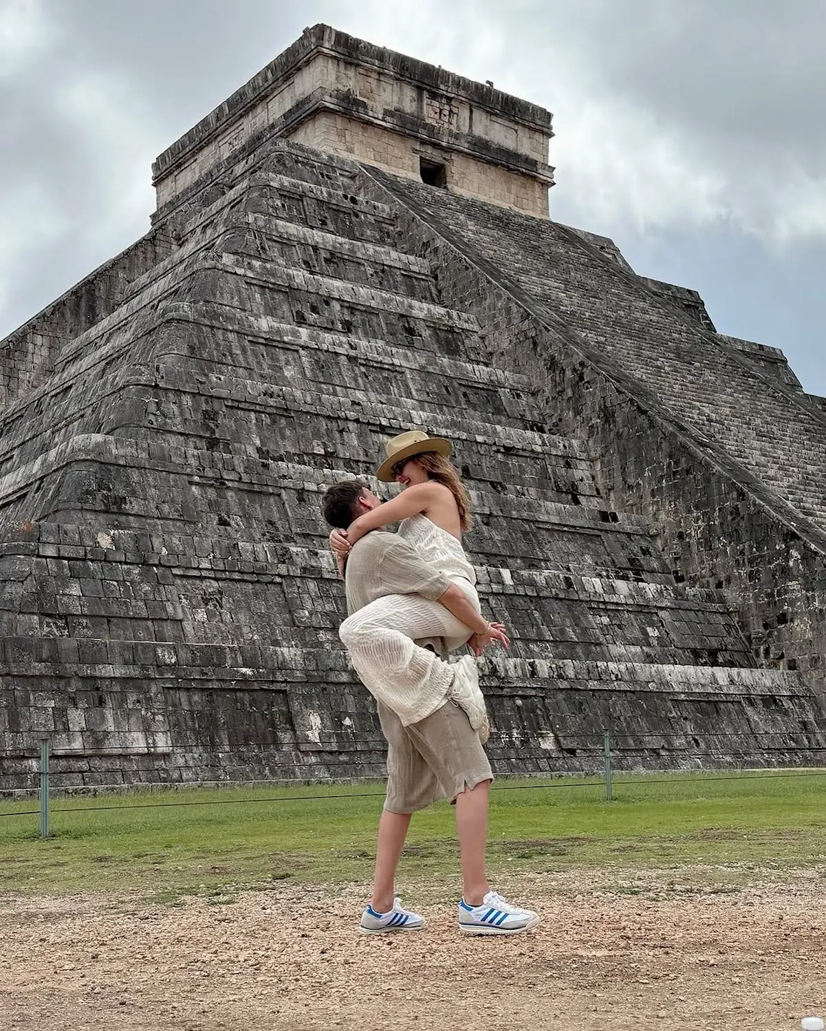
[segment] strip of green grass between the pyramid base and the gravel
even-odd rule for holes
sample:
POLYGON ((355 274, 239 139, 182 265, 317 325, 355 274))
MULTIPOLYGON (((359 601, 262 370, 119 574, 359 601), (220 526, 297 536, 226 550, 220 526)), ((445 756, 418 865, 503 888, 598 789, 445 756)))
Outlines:
MULTIPOLYGON (((494 786, 494 875, 826 862, 826 770, 616 777, 612 802, 598 780, 570 785, 494 786)), ((0 893, 200 893, 220 901, 246 886, 365 882, 382 798, 378 784, 56 798, 46 840, 37 816, 6 816, 36 809, 36 801, 0 802, 0 893)), ((456 871, 453 809, 440 803, 414 817, 401 872, 452 890, 456 871)))

